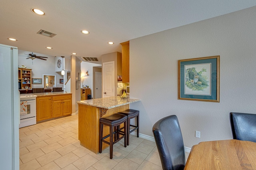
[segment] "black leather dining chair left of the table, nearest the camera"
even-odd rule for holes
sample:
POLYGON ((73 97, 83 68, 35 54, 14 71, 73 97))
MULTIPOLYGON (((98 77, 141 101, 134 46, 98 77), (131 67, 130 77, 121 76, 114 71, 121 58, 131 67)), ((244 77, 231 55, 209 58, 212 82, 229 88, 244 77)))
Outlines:
POLYGON ((176 115, 157 121, 153 134, 163 170, 183 170, 186 164, 185 149, 176 115))

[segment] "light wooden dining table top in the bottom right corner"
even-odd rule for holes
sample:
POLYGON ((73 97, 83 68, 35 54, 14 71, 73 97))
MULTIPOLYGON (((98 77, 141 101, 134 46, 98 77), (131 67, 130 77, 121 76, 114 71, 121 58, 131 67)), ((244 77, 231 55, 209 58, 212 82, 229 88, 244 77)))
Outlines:
POLYGON ((184 170, 256 170, 256 143, 236 139, 194 145, 184 170))

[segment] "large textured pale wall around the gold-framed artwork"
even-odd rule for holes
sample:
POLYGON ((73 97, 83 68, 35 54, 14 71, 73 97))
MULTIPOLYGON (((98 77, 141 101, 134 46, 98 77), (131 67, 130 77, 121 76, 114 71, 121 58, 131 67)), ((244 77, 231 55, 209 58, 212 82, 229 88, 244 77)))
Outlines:
POLYGON ((177 115, 184 145, 232 139, 230 112, 256 113, 256 7, 130 40, 130 104, 140 133, 177 115), (220 55, 220 103, 178 100, 178 60, 220 55), (142 88, 143 87, 143 88, 142 88), (196 138, 195 131, 201 131, 196 138))

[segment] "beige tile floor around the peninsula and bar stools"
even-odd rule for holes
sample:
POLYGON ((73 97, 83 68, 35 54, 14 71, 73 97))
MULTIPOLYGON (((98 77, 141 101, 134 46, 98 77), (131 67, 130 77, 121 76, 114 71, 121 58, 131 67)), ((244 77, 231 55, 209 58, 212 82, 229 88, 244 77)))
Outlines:
MULTIPOLYGON (((188 153, 186 152, 186 158, 188 153)), ((161 170, 156 144, 130 135, 95 154, 78 140, 78 115, 20 128, 20 170, 161 170)))

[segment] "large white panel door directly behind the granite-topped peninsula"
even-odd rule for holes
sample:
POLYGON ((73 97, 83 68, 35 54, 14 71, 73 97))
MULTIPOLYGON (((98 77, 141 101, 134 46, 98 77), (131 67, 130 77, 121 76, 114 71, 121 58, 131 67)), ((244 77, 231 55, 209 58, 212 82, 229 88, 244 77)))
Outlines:
POLYGON ((103 89, 102 97, 114 96, 114 61, 103 63, 102 74, 103 74, 103 89))

